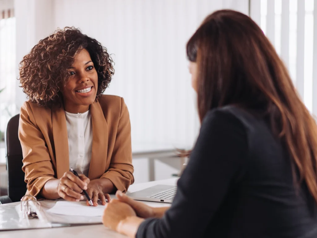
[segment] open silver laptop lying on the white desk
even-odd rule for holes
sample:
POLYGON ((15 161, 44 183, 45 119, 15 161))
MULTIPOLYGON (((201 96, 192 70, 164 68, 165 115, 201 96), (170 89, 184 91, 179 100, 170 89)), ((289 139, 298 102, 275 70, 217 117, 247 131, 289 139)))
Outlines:
POLYGON ((176 194, 176 189, 177 186, 155 185, 126 195, 134 200, 171 203, 176 194))

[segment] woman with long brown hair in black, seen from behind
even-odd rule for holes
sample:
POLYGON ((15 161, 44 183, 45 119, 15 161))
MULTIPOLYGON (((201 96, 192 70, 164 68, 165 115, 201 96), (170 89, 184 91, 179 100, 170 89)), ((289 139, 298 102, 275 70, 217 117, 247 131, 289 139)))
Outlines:
POLYGON ((187 56, 201 130, 171 208, 118 191, 104 224, 130 237, 317 237, 316 123, 262 30, 216 11, 187 56))

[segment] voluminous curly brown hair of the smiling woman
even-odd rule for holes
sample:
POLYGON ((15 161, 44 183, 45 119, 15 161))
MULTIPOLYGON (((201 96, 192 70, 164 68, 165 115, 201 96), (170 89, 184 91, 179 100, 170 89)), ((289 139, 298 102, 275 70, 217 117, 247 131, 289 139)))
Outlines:
POLYGON ((68 81, 67 68, 74 57, 86 49, 98 74, 97 98, 101 97, 114 74, 113 60, 97 40, 74 27, 57 29, 54 34, 36 44, 20 62, 20 83, 31 102, 52 106, 61 96, 68 81))

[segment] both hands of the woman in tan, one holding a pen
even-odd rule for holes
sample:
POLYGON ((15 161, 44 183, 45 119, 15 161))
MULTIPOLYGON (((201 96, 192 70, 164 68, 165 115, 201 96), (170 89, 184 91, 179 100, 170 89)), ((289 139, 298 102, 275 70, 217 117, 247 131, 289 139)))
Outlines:
MULTIPOLYGON (((92 199, 94 206, 98 205, 100 199, 102 205, 106 205, 106 200, 110 202, 110 195, 104 194, 100 186, 100 179, 89 180, 85 175, 80 174, 79 177, 75 176, 72 172, 65 172, 61 177, 58 184, 58 195, 67 201, 80 201, 86 200, 83 190, 86 190, 89 197, 92 199)), ((89 205, 88 201, 86 201, 89 205)))

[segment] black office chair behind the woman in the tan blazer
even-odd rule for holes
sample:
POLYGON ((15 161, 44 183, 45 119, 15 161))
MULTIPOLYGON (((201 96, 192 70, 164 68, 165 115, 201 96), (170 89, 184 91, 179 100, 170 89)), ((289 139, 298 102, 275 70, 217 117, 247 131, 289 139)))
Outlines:
POLYGON ((23 155, 18 137, 20 115, 13 116, 8 122, 5 135, 6 169, 8 174, 8 196, 0 196, 0 204, 19 202, 26 193, 24 172, 22 171, 23 155))

